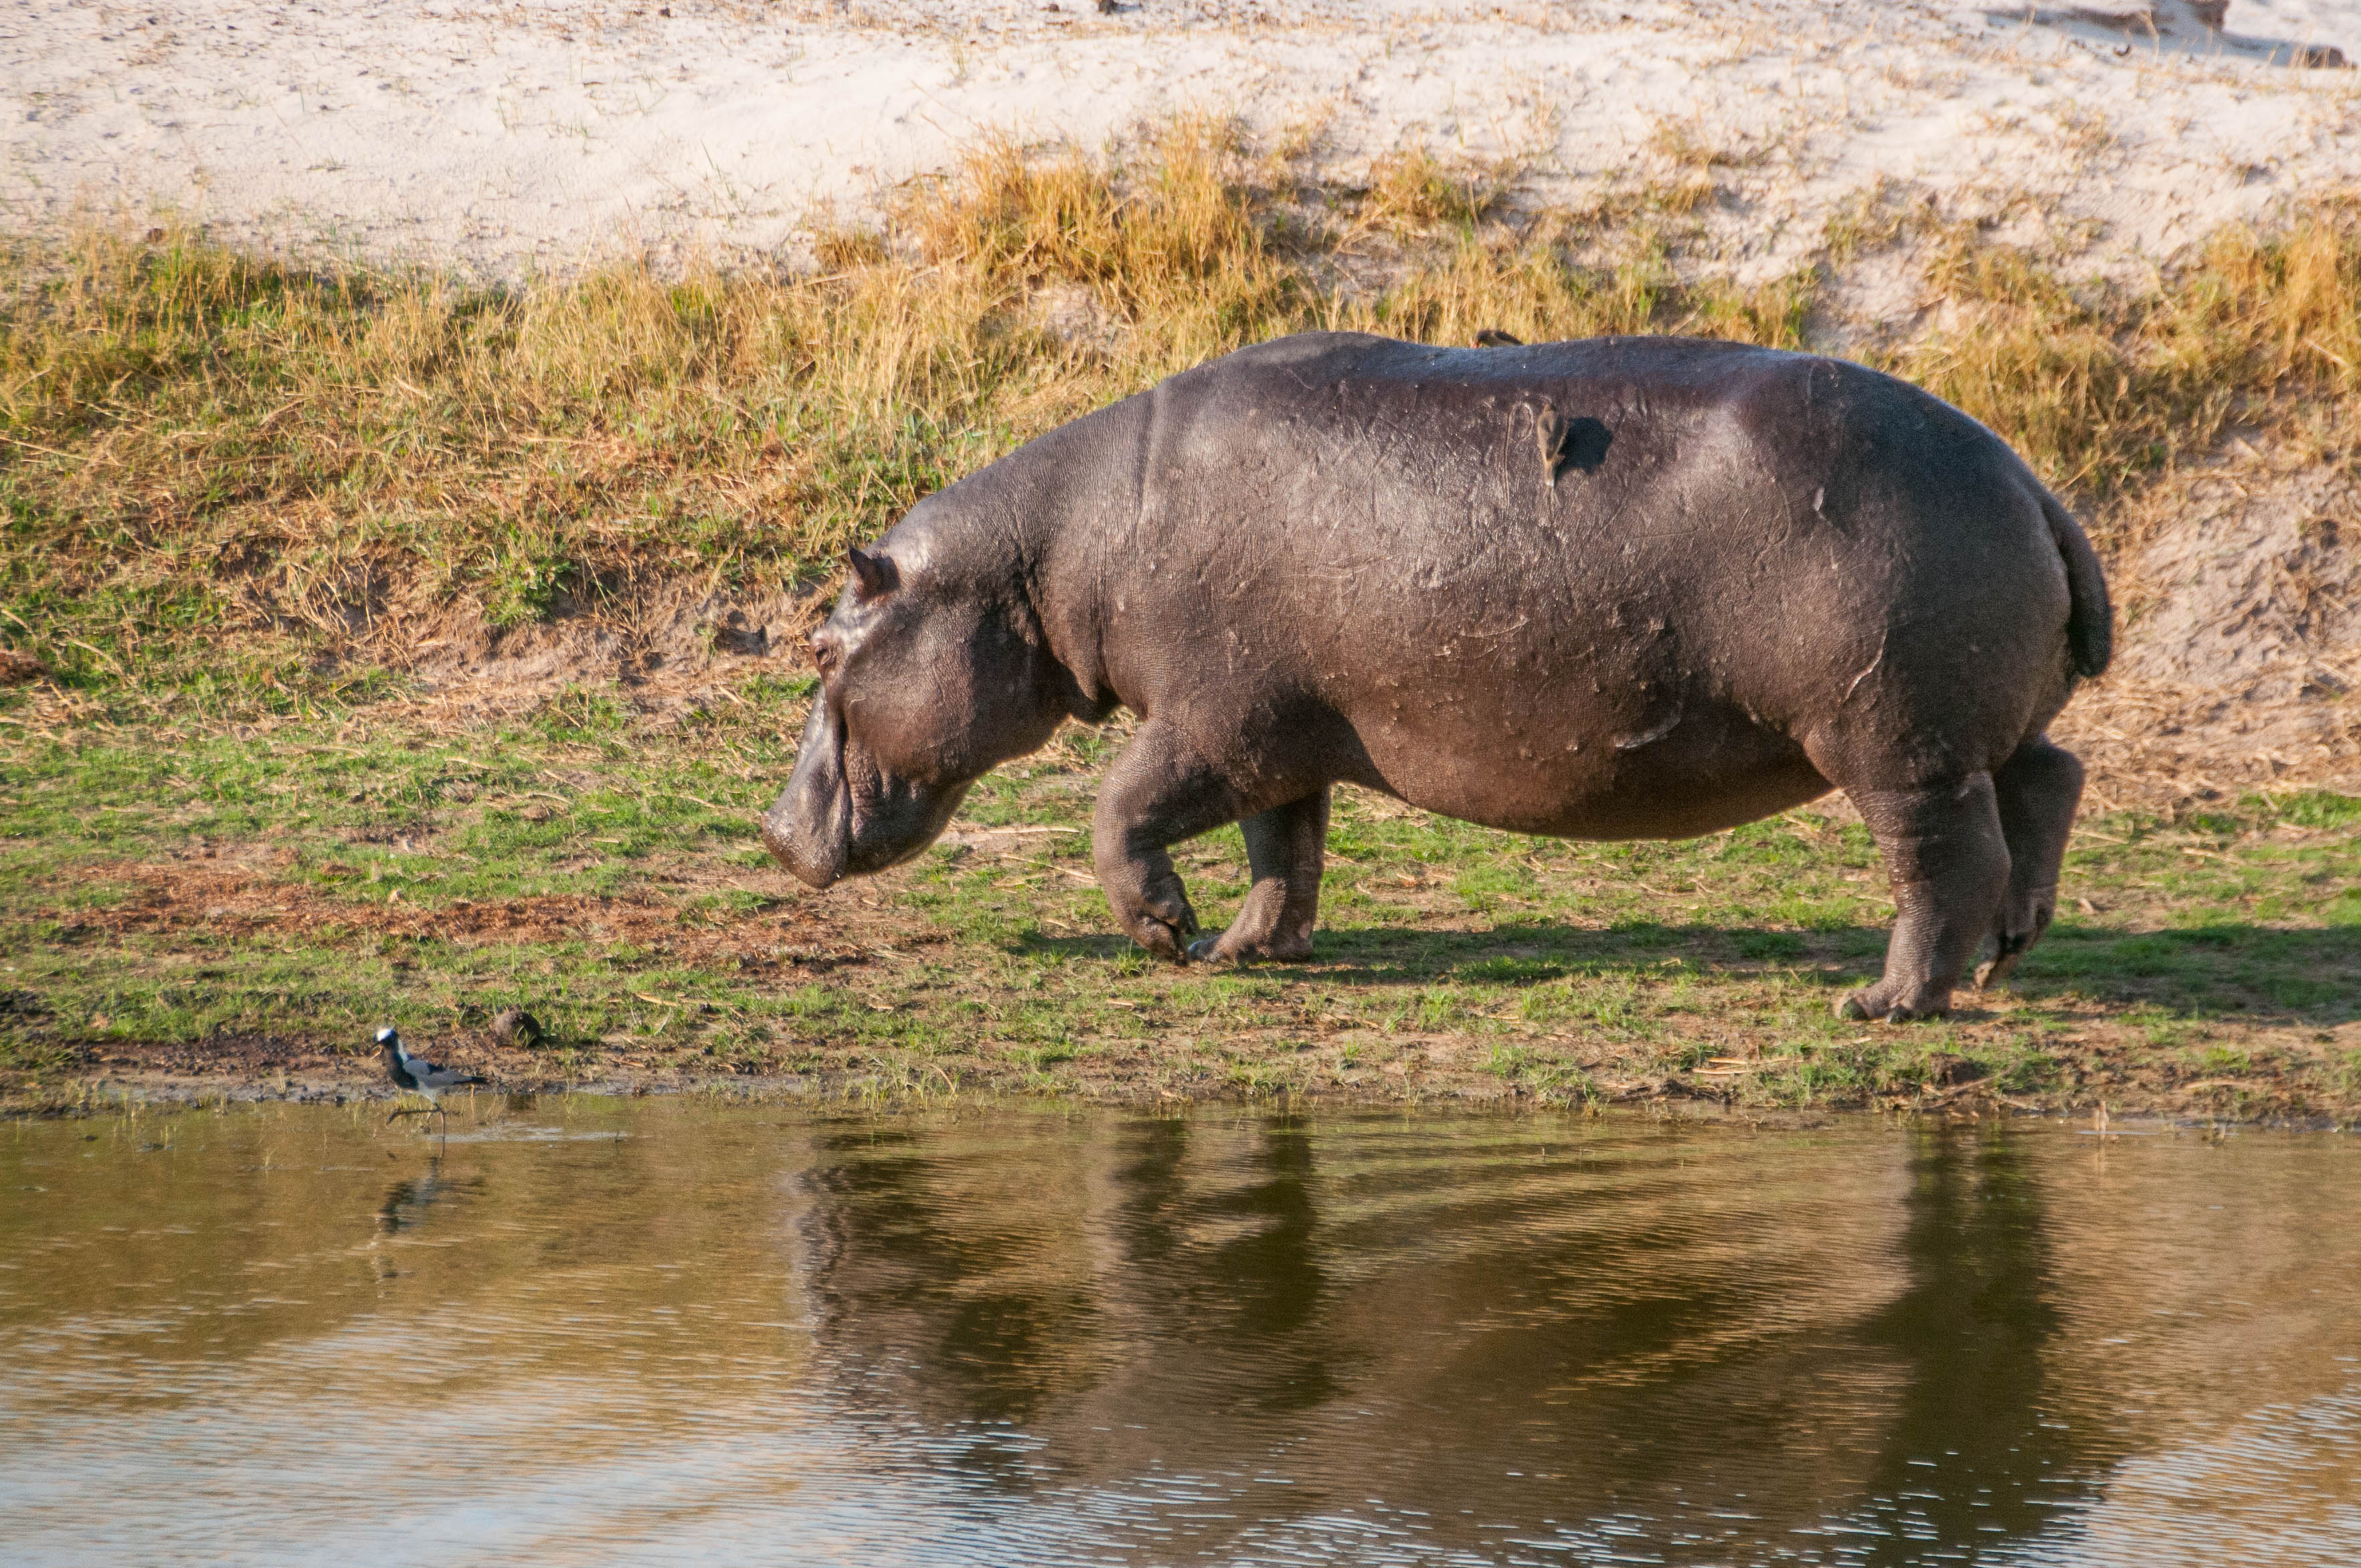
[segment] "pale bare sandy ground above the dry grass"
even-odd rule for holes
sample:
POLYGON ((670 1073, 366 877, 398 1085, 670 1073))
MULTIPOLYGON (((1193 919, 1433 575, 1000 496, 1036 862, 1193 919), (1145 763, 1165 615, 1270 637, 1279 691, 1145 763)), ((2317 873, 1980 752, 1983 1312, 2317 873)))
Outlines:
POLYGON ((17 0, 0 222, 142 220, 493 274, 616 248, 793 260, 980 130, 1173 111, 1426 142, 1532 194, 1660 149, 1747 161, 1728 260, 1780 267, 1879 177, 2040 198, 2094 264, 2361 179, 2361 0, 17 0), (2113 17, 2094 21, 2092 17, 2113 17))

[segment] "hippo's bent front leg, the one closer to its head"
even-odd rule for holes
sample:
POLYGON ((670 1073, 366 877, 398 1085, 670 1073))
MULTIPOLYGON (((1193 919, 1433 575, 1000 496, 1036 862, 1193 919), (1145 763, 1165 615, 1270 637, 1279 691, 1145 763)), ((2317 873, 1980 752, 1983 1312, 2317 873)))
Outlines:
POLYGON ((1237 791, 1216 767, 1166 725, 1140 725, 1124 756, 1107 767, 1091 822, 1098 886, 1133 942, 1159 959, 1188 963, 1197 912, 1166 848, 1237 817, 1237 791))

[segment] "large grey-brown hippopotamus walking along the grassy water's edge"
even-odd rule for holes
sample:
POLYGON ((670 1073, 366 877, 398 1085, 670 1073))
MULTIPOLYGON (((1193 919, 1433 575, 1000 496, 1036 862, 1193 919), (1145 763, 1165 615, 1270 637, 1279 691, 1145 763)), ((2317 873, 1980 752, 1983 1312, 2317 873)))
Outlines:
POLYGON ((1171 961, 1306 959, 1329 791, 1516 834, 1688 838, 1842 789, 1894 890, 1851 1018, 1950 1006, 2056 907, 2106 579, 1990 430, 1858 364, 1695 338, 1301 333, 1077 418, 848 557, 763 817, 812 888, 1129 708, 1093 822, 1171 961), (1169 848, 1247 841, 1199 935, 1169 848))

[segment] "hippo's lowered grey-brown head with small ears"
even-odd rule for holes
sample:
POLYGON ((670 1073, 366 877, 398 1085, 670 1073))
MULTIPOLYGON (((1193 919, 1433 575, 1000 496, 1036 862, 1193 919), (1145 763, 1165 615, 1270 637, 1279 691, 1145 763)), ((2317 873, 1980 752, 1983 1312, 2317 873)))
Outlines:
POLYGON ((930 845, 968 784, 1051 737, 1055 661, 1008 581, 937 569, 923 536, 850 553, 852 579, 812 633, 819 690, 763 843, 815 888, 930 845))

